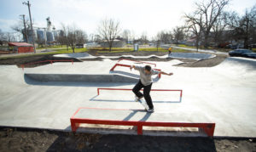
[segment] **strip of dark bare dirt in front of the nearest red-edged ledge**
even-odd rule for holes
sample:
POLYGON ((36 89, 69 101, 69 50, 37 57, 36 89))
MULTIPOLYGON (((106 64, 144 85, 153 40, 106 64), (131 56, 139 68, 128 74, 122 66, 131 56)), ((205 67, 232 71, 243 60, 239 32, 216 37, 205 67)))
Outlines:
POLYGON ((1 151, 245 151, 255 138, 172 138, 0 129, 1 151))

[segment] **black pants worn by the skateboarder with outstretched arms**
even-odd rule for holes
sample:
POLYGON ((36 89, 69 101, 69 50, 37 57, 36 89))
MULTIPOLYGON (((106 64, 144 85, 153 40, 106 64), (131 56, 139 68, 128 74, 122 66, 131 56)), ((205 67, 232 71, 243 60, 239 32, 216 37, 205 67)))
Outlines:
POLYGON ((149 109, 154 108, 154 105, 152 104, 152 99, 150 97, 150 91, 151 91, 152 83, 149 84, 148 86, 144 86, 141 80, 137 82, 136 86, 133 87, 132 92, 135 93, 135 95, 138 98, 142 98, 144 96, 144 99, 146 100, 149 109), (140 92, 140 90, 143 89, 143 93, 140 92))

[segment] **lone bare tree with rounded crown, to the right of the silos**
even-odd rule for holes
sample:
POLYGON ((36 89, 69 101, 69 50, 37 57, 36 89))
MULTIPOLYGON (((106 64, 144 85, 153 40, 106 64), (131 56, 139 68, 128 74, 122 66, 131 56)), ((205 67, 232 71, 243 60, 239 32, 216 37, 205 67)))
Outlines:
POLYGON ((102 20, 97 31, 102 39, 108 42, 108 48, 111 51, 113 40, 118 36, 120 31, 119 21, 113 19, 102 20))

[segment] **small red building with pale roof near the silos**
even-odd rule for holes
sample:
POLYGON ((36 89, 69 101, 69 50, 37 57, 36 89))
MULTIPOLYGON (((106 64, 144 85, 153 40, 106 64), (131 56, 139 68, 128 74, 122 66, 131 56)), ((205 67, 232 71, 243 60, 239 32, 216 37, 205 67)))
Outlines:
POLYGON ((11 48, 16 53, 32 53, 34 48, 32 44, 26 42, 9 42, 9 48, 11 48))

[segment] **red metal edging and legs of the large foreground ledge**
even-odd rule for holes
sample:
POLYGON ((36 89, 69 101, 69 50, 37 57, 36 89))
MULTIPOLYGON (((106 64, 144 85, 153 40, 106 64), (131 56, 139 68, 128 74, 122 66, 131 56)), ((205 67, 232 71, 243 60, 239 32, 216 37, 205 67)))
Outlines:
MULTIPOLYGON (((86 108, 79 108, 86 109, 86 108)), ((97 109, 97 108, 93 108, 97 109)), ((143 126, 148 127, 198 127, 202 128, 208 136, 212 137, 214 134, 215 123, 192 123, 192 122, 156 122, 156 121, 112 121, 112 120, 95 120, 95 119, 86 119, 86 118, 74 118, 79 110, 77 110, 72 118, 71 127, 73 132, 76 132, 77 128, 79 127, 80 123, 87 123, 87 124, 102 124, 102 125, 120 125, 120 126, 136 126, 137 127, 137 134, 143 134, 143 126)), ((99 109, 102 110, 102 109, 99 109)), ((119 110, 119 109, 113 109, 119 110)))

